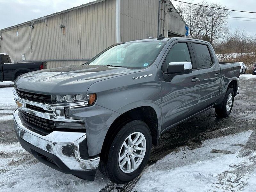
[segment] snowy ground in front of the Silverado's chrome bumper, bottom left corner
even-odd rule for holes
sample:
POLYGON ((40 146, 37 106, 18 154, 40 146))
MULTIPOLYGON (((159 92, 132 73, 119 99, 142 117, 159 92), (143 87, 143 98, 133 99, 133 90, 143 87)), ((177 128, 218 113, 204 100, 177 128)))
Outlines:
POLYGON ((18 142, 0 145, 0 186, 4 192, 12 191, 99 191, 109 180, 99 172, 94 181, 81 180, 75 176, 56 171, 21 148, 18 142))

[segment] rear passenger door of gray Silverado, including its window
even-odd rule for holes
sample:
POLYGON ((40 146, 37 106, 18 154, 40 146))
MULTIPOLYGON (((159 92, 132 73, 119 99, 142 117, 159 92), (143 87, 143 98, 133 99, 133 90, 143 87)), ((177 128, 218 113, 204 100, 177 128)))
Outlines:
POLYGON ((214 51, 207 43, 191 41, 200 77, 198 109, 204 110, 215 104, 220 95, 220 65, 214 51))

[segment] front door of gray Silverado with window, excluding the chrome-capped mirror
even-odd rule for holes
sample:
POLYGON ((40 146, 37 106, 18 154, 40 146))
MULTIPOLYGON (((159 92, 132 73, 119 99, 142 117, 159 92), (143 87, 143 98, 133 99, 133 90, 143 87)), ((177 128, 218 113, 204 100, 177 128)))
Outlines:
POLYGON ((199 72, 189 40, 174 41, 166 53, 162 68, 158 70, 163 112, 162 131, 197 112, 200 88, 199 72), (166 71, 169 63, 179 61, 190 61, 194 67, 192 73, 168 76, 166 71))

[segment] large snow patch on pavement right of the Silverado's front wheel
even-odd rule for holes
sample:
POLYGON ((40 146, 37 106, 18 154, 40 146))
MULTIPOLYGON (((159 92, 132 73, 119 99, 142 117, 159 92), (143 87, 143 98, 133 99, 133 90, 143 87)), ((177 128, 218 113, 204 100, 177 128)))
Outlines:
MULTIPOLYGON (((238 177, 234 171, 237 165, 253 164, 248 157, 239 156, 252 131, 206 140, 201 148, 180 148, 148 167, 134 187, 134 191, 235 191, 233 183, 238 177), (228 173, 228 178, 223 174, 228 173), (232 186, 232 187, 231 187, 232 186), (229 188, 230 187, 230 188, 229 188)), ((255 156, 254 153, 252 156, 255 156)), ((255 172, 254 172, 255 173, 255 172)), ((239 175, 239 174, 238 174, 239 175)), ((248 174, 243 175, 246 185, 248 174)), ((254 187, 256 180, 252 174, 248 183, 254 187)), ((249 191, 253 188, 248 187, 249 191)), ((255 189, 255 188, 254 188, 255 189)), ((254 190, 253 189, 253 190, 254 190)))

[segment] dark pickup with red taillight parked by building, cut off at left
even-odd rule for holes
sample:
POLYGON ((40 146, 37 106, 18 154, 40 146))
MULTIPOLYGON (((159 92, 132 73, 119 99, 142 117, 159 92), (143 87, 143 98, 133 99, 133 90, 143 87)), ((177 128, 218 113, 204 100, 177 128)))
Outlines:
POLYGON ((0 53, 0 81, 14 81, 24 73, 46 68, 46 62, 12 63, 9 55, 0 53))

